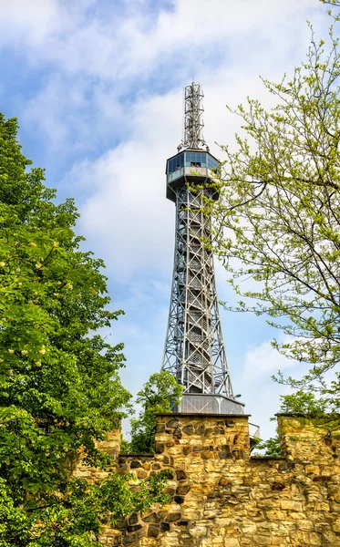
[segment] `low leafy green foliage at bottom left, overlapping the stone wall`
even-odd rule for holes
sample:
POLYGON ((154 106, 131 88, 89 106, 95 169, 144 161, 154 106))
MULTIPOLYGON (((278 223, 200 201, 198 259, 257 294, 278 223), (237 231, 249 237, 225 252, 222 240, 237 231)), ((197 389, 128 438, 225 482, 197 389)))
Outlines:
POLYGON ((162 493, 168 473, 139 481, 140 490, 127 488, 129 474, 111 473, 98 486, 88 486, 86 480, 69 480, 60 492, 48 492, 44 501, 15 505, 10 489, 0 479, 0 545, 77 545, 99 546, 97 541, 102 524, 114 525, 119 517, 143 511, 155 501, 165 502, 162 493))

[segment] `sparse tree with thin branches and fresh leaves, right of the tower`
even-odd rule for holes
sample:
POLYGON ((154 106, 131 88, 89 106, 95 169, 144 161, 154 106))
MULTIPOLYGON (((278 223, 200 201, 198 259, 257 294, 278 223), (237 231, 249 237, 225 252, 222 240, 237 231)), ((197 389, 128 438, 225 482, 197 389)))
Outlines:
POLYGON ((302 380, 279 376, 297 389, 294 400, 283 397, 285 408, 304 411, 301 394, 308 392, 318 412, 334 418, 340 410, 339 75, 333 28, 326 43, 312 29, 306 60, 293 76, 263 80, 274 108, 252 98, 230 108, 242 134, 236 151, 222 146, 220 200, 206 202, 214 250, 241 297, 226 307, 265 315, 285 335, 273 346, 309 366, 302 380), (251 285, 242 284, 250 278, 251 285), (327 382, 330 369, 335 378, 327 382))

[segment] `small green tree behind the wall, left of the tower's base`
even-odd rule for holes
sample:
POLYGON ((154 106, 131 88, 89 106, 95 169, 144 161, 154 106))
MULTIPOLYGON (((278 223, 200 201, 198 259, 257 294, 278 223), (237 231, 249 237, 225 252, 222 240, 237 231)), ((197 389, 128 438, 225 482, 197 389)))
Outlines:
POLYGON ((156 415, 171 412, 178 405, 183 388, 170 372, 152 374, 137 394, 136 403, 141 405, 139 418, 131 419, 131 441, 126 450, 134 453, 153 453, 155 444, 156 415))

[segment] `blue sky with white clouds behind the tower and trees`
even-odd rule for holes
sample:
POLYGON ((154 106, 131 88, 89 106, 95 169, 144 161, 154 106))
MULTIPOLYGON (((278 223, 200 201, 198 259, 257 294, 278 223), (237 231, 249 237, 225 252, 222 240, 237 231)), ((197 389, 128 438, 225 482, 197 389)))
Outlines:
MULTIPOLYGON (((222 158, 218 145, 233 147, 240 127, 226 105, 250 96, 271 107, 260 76, 279 81, 304 60, 307 20, 326 36, 318 0, 0 0, 0 111, 19 119, 23 152, 58 200, 76 199, 77 232, 106 263, 110 306, 125 315, 104 335, 125 344, 132 393, 161 366, 175 220, 164 170, 183 87, 201 83, 204 138, 222 158)), ((271 376, 301 366, 273 350, 280 334, 263 318, 221 315, 234 391, 265 439, 284 393, 271 376)))

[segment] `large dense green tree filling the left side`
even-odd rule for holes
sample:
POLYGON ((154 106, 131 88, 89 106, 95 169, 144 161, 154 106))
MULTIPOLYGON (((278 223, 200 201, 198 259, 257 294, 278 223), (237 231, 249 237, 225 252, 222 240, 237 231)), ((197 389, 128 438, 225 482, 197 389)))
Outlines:
POLYGON ((129 405, 122 346, 89 336, 121 312, 103 262, 79 249, 74 202, 56 204, 16 133, 0 115, 0 545, 95 545, 110 511, 148 506, 164 478, 130 492, 123 476, 88 487, 69 474, 80 451, 110 463, 96 441, 129 405))

